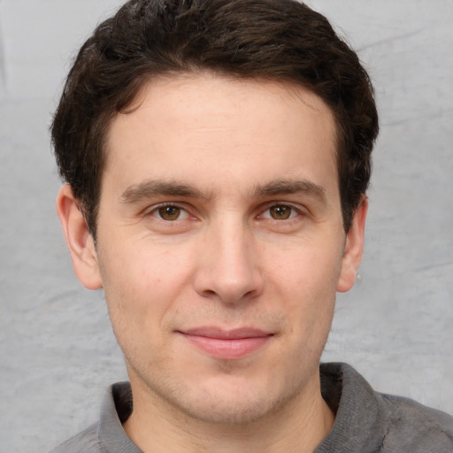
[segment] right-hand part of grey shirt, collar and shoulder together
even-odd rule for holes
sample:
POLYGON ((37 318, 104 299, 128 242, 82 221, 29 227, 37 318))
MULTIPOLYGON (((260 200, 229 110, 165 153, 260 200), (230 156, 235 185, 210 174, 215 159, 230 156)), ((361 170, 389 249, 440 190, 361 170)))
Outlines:
POLYGON ((453 452, 453 418, 448 414, 376 392, 349 365, 322 364, 320 371, 322 395, 336 416, 317 453, 453 452))

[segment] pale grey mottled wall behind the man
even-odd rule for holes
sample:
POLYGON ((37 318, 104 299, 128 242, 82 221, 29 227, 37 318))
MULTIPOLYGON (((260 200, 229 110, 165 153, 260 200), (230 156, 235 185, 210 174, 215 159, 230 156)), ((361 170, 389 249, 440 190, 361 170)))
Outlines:
MULTIPOLYGON (((50 449, 126 378, 102 293, 73 277, 48 136, 69 57, 120 3, 0 0, 0 453, 50 449)), ((381 118, 362 280, 324 359, 453 412, 453 2, 310 4, 359 50, 381 118)))

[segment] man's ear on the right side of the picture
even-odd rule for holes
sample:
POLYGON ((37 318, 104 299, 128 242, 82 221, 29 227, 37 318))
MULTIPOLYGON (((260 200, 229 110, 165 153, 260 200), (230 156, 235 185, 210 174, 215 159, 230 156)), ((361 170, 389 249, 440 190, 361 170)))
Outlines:
POLYGON ((365 220, 368 211, 368 199, 364 196, 362 203, 354 213, 342 257, 342 272, 338 280, 337 291, 345 293, 354 286, 362 253, 364 251, 365 220))

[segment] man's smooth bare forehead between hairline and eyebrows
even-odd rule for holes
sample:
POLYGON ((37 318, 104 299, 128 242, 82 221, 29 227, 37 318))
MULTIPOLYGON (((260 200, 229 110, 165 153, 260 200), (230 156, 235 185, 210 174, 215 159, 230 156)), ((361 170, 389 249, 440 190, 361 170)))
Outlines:
POLYGON ((324 178, 336 188, 335 149, 333 114, 307 89, 183 74, 147 82, 112 119, 104 177, 116 173, 122 186, 167 179, 244 189, 324 178))

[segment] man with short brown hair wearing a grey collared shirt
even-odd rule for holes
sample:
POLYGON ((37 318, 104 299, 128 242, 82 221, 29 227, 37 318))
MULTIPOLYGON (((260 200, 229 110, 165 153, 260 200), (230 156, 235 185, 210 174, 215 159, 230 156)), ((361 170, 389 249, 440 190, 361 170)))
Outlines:
POLYGON ((319 367, 354 285, 378 117, 357 55, 292 0, 132 0, 82 46, 58 215, 130 385, 55 451, 453 449, 453 420, 319 367))

